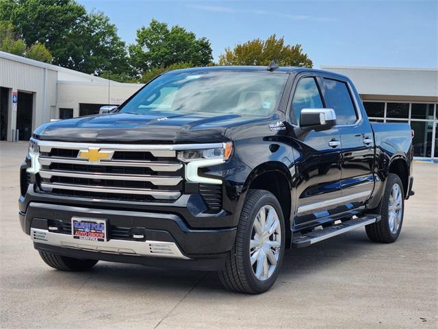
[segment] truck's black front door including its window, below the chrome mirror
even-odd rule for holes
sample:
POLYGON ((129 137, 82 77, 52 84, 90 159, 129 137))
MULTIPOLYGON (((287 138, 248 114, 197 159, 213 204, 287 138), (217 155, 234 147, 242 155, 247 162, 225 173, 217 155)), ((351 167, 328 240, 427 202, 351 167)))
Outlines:
POLYGON ((338 212, 341 195, 341 136, 337 127, 315 131, 299 127, 303 108, 326 108, 320 79, 302 75, 296 82, 290 113, 296 156, 295 224, 318 221, 338 212))

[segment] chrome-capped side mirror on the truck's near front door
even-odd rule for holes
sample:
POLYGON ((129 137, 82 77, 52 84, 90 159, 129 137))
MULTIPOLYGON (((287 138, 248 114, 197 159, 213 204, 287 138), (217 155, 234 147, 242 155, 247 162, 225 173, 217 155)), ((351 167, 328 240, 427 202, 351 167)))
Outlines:
POLYGON ((303 108, 300 114, 300 127, 307 130, 328 130, 336 125, 333 108, 303 108))

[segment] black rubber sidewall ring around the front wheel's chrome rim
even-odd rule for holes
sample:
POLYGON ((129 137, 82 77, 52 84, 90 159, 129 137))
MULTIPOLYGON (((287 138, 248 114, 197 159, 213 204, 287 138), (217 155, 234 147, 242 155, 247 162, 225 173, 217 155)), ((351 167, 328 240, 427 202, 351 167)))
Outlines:
MULTIPOLYGON (((267 291, 270 287, 272 287, 272 284, 274 284, 276 278, 279 276, 279 271, 281 269, 281 264, 283 263, 283 257, 284 257, 284 251, 285 251, 285 221, 283 218, 283 211, 281 209, 281 206, 278 202, 278 200, 276 199, 276 197, 274 197, 274 195, 272 195, 272 193, 268 192, 268 191, 263 191, 263 196, 261 198, 258 199, 258 201, 253 204, 250 205, 252 207, 252 210, 250 212, 250 220, 247 221, 247 225, 245 228, 241 228, 245 230, 244 236, 246 237, 245 241, 242 241, 242 250, 240 250, 240 256, 242 256, 242 260, 243 260, 243 266, 244 266, 244 271, 247 274, 246 278, 248 279, 248 283, 250 284, 250 286, 252 286, 252 288, 257 291, 257 292, 263 292, 263 291, 267 291), (265 281, 260 281, 256 278, 255 273, 253 271, 253 267, 250 264, 250 239, 251 239, 251 234, 252 234, 252 230, 253 230, 253 223, 255 221, 255 218, 257 216, 257 213, 259 212, 259 210, 261 209, 261 207, 263 206, 272 206, 278 217, 280 220, 280 226, 281 226, 281 249, 280 249, 280 256, 279 256, 279 260, 278 263, 276 265, 276 269, 274 271, 274 273, 272 273, 272 276, 270 278, 268 278, 268 280, 265 281)), ((245 205, 247 206, 247 205, 245 205)))

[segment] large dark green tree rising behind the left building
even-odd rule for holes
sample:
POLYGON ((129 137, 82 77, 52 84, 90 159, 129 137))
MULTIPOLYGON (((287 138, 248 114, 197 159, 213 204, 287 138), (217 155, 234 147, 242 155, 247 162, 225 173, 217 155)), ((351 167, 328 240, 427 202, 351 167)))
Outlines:
POLYGON ((127 69, 115 25, 101 12, 87 14, 75 0, 0 0, 0 13, 27 45, 46 45, 53 64, 94 74, 127 69))

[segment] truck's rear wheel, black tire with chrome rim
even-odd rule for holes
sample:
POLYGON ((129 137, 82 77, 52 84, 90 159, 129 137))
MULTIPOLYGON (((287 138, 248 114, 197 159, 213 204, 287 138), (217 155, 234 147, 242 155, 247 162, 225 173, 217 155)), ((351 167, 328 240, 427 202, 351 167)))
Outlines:
MULTIPOLYGON (((373 212, 372 210, 370 210, 373 212)), ((377 223, 372 223, 365 226, 368 238, 374 242, 393 243, 397 240, 402 230, 403 215, 404 215, 404 190, 402 180, 395 173, 390 173, 387 177, 385 186, 385 193, 383 194, 381 203, 374 210, 374 212, 382 216, 377 223), (398 187, 396 187, 398 186, 398 187), (393 203, 392 195, 394 195, 394 188, 399 190, 400 196, 397 197, 397 202, 393 203), (392 210, 389 208, 400 210, 392 210), (396 217, 394 217, 396 215, 396 217)))

